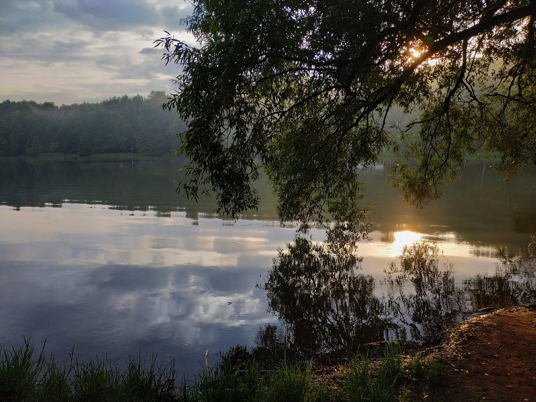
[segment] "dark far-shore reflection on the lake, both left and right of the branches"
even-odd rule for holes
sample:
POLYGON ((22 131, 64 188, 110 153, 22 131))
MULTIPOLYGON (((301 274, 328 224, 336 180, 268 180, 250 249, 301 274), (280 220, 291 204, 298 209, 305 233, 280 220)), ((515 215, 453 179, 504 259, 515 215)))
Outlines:
MULTIPOLYGON (((215 203, 207 198, 195 203, 177 197, 175 181, 181 179, 177 170, 183 163, 178 158, 138 160, 133 164, 92 159, 0 158, 0 203, 15 209, 47 206, 49 210, 52 206, 93 204, 95 209, 103 205, 126 214, 144 211, 166 218, 178 212, 196 225, 199 218, 214 216, 215 203)), ((381 166, 362 175, 364 201, 374 206, 370 221, 383 233, 438 228, 475 245, 486 242, 517 247, 523 238, 519 233, 530 233, 530 228, 519 230, 520 225, 536 222, 535 169, 517 182, 504 183, 485 166, 468 163, 460 172, 459 183, 425 210, 404 202, 399 191, 385 183, 388 175, 388 169, 381 166)), ((256 189, 262 203, 258 211, 250 211, 244 217, 277 220, 270 186, 260 180, 256 189)))

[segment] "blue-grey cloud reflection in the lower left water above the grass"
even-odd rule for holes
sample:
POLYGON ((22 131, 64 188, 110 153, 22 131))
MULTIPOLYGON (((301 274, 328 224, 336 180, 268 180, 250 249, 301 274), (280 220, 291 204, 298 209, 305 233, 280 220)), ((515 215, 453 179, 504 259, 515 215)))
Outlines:
POLYGON ((103 265, 79 267, 81 276, 73 268, 2 264, 3 278, 10 278, 0 281, 2 345, 18 345, 25 334, 48 338, 59 359, 72 345, 79 356, 160 351, 162 360, 172 355, 178 367, 193 370, 205 349, 251 344, 259 323, 269 321, 263 293, 241 272, 103 265))

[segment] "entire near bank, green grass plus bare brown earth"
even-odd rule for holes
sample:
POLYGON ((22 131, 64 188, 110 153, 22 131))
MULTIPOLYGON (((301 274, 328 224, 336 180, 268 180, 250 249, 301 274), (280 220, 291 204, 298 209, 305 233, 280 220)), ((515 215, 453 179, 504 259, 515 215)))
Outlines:
POLYGON ((536 402, 534 307, 470 318, 436 347, 408 352, 386 343, 319 367, 286 356, 263 363, 248 353, 238 360, 224 355, 182 382, 173 361, 158 365, 140 355, 124 371, 72 354, 62 363, 26 340, 26 348, 0 351, 0 400, 536 402))

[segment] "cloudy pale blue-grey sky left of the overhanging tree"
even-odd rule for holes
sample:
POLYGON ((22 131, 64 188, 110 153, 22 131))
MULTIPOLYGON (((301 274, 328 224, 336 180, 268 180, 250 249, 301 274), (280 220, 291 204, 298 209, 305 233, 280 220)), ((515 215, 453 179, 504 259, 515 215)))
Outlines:
POLYGON ((184 0, 0 0, 0 102, 98 102, 173 92, 155 39, 195 44, 184 0))

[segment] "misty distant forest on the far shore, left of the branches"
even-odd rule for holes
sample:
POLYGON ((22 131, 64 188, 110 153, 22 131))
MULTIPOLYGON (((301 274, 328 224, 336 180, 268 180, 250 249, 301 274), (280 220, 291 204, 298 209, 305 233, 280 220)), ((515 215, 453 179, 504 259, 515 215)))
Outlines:
POLYGON ((0 156, 68 153, 169 153, 185 125, 162 110, 163 91, 99 103, 56 106, 53 102, 0 103, 0 156))

